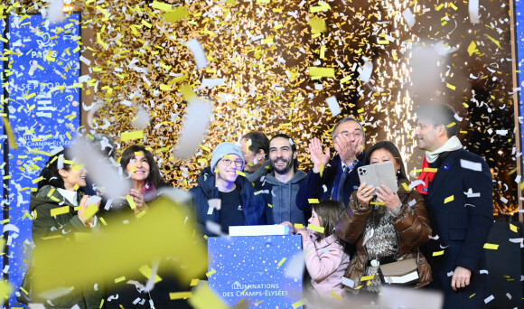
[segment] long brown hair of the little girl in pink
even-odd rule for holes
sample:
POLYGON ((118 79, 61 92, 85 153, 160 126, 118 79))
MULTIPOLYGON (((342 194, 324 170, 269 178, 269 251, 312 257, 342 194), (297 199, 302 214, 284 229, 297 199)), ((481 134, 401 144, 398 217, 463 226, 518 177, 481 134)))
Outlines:
POLYGON ((334 235, 337 242, 343 246, 345 242, 335 234, 335 227, 342 216, 342 212, 345 211, 342 201, 321 201, 318 204, 313 204, 313 211, 316 212, 320 224, 323 226, 323 233, 317 240, 320 241, 334 235))

